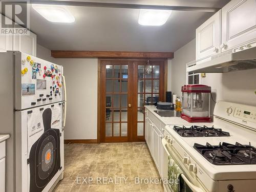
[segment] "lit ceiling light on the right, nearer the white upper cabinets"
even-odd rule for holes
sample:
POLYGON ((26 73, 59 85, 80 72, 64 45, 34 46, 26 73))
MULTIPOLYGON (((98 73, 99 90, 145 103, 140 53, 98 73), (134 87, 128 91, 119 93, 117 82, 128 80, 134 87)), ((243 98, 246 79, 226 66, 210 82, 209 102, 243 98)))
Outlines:
POLYGON ((141 9, 138 23, 144 26, 161 26, 167 22, 172 10, 141 9))

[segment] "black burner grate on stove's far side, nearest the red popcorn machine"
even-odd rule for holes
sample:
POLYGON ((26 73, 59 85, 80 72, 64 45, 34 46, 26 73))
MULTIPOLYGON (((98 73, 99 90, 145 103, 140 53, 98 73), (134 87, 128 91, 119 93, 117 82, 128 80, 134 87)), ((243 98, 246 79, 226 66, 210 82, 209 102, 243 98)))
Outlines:
POLYGON ((214 126, 208 127, 206 125, 198 126, 174 126, 174 130, 181 137, 228 137, 228 132, 222 131, 222 129, 215 129, 214 126))

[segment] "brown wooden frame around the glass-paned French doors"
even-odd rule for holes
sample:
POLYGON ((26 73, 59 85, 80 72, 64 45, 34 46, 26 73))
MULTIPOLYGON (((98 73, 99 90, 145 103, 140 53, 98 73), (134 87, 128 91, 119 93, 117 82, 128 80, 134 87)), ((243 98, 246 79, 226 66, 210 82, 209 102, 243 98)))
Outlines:
MULTIPOLYGON (((101 61, 112 61, 112 60, 125 60, 125 61, 147 61, 148 58, 98 58, 98 89, 97 89, 97 143, 100 143, 101 140, 101 61)), ((164 61, 164 100, 165 92, 167 91, 167 71, 168 71, 168 60, 163 58, 153 58, 150 60, 154 61, 164 61)), ((143 141, 143 140, 141 140, 143 141)))

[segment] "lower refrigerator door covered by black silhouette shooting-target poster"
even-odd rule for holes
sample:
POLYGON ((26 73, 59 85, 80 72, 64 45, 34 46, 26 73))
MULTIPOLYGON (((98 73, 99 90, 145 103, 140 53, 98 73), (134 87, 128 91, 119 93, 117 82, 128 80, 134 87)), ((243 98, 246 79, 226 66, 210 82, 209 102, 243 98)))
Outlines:
POLYGON ((16 112, 16 117, 16 191, 49 191, 63 171, 62 103, 16 112))

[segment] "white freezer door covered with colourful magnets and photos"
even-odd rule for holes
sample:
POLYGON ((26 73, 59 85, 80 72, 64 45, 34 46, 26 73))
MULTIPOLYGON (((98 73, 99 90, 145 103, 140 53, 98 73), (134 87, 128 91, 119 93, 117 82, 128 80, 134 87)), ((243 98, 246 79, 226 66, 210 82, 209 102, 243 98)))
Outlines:
POLYGON ((62 66, 15 52, 16 100, 15 109, 60 102, 62 96, 62 66))

